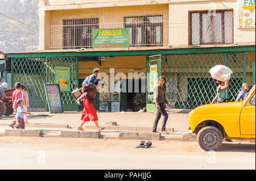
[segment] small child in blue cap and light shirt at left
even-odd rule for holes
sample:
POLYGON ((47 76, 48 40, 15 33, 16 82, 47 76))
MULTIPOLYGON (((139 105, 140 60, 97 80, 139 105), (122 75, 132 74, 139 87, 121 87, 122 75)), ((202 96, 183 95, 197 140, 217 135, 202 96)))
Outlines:
POLYGON ((24 114, 31 115, 31 112, 24 112, 22 99, 18 99, 16 101, 16 104, 18 104, 19 107, 17 108, 17 112, 15 115, 15 118, 16 118, 15 128, 16 129, 25 129, 24 114))

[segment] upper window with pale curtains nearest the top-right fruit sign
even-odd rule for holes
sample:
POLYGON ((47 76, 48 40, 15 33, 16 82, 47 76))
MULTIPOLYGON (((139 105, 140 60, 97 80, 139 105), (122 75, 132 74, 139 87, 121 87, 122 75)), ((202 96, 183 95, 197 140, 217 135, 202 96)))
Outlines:
POLYGON ((189 12, 189 44, 232 44, 233 10, 189 12))

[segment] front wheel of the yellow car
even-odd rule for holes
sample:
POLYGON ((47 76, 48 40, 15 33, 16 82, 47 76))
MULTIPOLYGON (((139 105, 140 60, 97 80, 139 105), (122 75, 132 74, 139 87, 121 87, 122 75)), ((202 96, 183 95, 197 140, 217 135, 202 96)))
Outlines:
POLYGON ((223 136, 220 130, 216 127, 204 127, 197 134, 197 142, 200 147, 205 150, 218 150, 220 149, 223 141, 223 136))

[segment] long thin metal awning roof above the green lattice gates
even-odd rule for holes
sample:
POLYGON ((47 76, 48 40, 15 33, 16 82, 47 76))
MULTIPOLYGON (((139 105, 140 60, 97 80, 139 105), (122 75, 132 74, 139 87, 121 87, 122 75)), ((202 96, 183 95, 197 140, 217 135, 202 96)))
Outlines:
MULTIPOLYGON (((255 43, 241 43, 241 44, 219 44, 219 45, 180 45, 180 46, 169 46, 169 47, 129 47, 129 48, 109 48, 109 49, 55 49, 55 50, 32 50, 24 52, 9 52, 13 53, 61 53, 61 52, 112 52, 112 51, 139 51, 139 50, 157 50, 157 49, 183 49, 183 48, 220 48, 220 47, 240 47, 240 46, 251 46, 255 43)), ((8 53, 6 53, 8 54, 8 53)))

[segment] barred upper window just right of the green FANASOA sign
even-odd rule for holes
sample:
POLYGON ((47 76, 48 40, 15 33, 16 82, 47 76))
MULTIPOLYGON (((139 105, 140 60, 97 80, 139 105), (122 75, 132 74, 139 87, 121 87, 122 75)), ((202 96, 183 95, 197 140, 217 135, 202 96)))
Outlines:
POLYGON ((130 47, 162 47, 163 15, 125 17, 130 29, 130 47))

